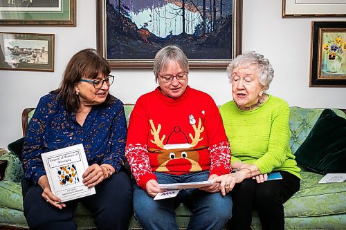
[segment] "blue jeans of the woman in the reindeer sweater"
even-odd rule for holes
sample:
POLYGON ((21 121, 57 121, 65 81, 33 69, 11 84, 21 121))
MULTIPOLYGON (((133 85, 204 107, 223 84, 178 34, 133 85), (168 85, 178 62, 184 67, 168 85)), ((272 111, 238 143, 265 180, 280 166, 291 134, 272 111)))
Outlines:
MULTIPOLYGON (((208 180, 209 171, 170 175, 155 173, 160 184, 200 182, 208 180)), ((192 216, 188 229, 221 229, 232 216, 232 198, 221 192, 208 193, 199 189, 183 189, 174 198, 154 200, 148 193, 133 182, 134 215, 143 229, 178 229, 175 209, 185 204, 192 216)))

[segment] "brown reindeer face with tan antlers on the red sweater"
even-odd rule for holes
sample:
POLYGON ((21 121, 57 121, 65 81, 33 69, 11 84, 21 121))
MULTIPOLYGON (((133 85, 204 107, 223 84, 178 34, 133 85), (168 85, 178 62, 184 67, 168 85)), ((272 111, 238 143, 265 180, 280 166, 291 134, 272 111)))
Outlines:
POLYGON ((199 141, 203 140, 203 137, 200 138, 200 134, 204 131, 204 127, 201 126, 201 119, 199 119, 199 124, 196 126, 196 121, 192 115, 189 116, 190 124, 194 128, 194 135, 189 133, 191 142, 189 141, 188 136, 181 130, 179 126, 175 126, 173 131, 168 135, 167 140, 165 141, 165 135, 160 138, 161 124, 158 124, 157 128, 154 125, 154 122, 149 120, 150 125, 152 126, 151 133, 154 137, 154 140, 151 140, 152 143, 156 144, 161 149, 149 148, 149 151, 152 153, 158 153, 157 162, 159 164, 156 171, 161 172, 187 172, 187 171, 201 171, 201 166, 199 166, 199 150, 206 148, 206 146, 199 146, 195 148, 199 141), (174 140, 172 142, 172 140, 174 140), (176 143, 179 140, 179 144, 170 144, 176 143))

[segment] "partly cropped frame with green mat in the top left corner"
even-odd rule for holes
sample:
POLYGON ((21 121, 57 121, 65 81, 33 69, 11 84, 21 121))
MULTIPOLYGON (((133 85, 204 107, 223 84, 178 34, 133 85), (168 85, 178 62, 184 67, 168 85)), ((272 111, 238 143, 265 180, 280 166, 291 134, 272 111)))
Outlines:
POLYGON ((0 0, 0 26, 76 26, 76 0, 0 0))

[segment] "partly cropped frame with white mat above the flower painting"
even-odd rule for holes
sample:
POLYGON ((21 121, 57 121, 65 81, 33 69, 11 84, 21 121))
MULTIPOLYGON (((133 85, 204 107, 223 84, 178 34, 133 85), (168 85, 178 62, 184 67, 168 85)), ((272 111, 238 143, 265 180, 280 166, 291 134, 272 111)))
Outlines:
POLYGON ((282 17, 346 17, 346 0, 282 0, 282 17))

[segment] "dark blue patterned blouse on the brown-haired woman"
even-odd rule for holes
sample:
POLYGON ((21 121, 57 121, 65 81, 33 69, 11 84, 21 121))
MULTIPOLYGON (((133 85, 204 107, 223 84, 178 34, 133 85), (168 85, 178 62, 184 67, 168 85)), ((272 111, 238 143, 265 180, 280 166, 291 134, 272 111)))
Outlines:
POLYGON ((80 126, 75 113, 67 112, 55 95, 45 95, 28 124, 22 152, 24 177, 36 184, 46 175, 41 153, 81 143, 89 165, 110 164, 118 173, 125 162, 126 136, 125 112, 119 99, 111 106, 93 106, 80 126))

